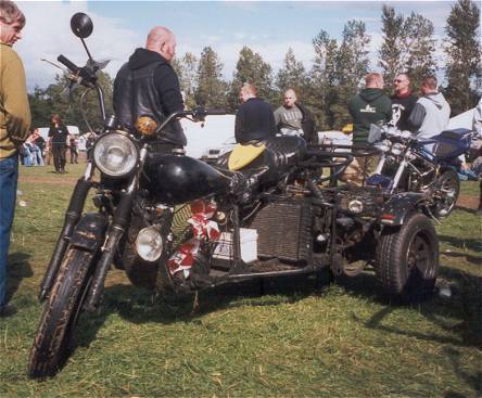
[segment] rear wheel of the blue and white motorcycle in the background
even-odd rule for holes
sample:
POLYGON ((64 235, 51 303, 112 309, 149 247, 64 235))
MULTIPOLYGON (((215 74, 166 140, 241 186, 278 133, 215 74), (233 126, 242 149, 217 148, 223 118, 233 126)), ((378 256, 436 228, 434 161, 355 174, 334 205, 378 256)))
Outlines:
POLYGON ((435 182, 433 215, 436 218, 447 217, 454 209, 459 193, 460 180, 457 174, 454 170, 442 172, 435 182))

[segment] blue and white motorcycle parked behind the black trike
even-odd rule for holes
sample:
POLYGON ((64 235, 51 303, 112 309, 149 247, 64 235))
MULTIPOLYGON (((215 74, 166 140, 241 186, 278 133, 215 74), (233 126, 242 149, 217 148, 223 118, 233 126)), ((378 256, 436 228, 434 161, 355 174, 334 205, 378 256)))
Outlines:
POLYGON ((470 149, 471 139, 470 130, 455 129, 419 141, 409 131, 371 125, 368 142, 381 156, 366 183, 389 193, 422 193, 430 215, 447 217, 460 192, 458 157, 470 149))

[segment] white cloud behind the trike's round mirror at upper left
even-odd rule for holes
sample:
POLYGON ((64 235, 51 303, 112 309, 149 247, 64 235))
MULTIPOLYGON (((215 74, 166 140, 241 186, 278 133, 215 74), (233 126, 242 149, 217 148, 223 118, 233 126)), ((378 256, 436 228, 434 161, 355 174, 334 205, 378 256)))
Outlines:
POLYGON ((71 17, 76 12, 86 12, 92 18, 93 33, 86 42, 94 60, 113 60, 106 68, 111 76, 115 76, 132 49, 142 44, 141 38, 123 28, 119 21, 89 12, 84 1, 28 1, 18 2, 18 7, 27 24, 15 50, 24 62, 29 90, 35 86, 47 87, 61 72, 41 59, 58 63, 58 55, 63 54, 77 65, 87 61, 80 40, 71 31, 71 17))

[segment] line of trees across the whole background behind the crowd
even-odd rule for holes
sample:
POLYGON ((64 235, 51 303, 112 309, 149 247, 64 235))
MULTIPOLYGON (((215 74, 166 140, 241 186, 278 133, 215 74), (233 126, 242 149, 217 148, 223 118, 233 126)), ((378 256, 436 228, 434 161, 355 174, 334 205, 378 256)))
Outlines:
MULTIPOLYGON (((451 103, 453 114, 475 105, 482 93, 482 61, 480 9, 471 0, 458 0, 446 20, 443 40, 445 81, 442 91, 451 103)), ((382 5, 382 43, 376 65, 370 65, 370 37, 362 21, 348 21, 341 40, 321 29, 312 40, 315 59, 309 69, 297 61, 289 48, 282 67, 275 74, 262 54, 249 47, 239 53, 230 80, 223 77, 223 63, 212 47, 205 47, 200 56, 188 52, 173 61, 178 73, 185 102, 188 107, 203 105, 224 107, 234 113, 239 106, 238 92, 243 82, 258 89, 258 95, 272 105, 281 103, 287 88, 294 88, 313 113, 319 130, 340 129, 350 121, 347 103, 359 90, 364 76, 379 69, 385 79, 386 93, 393 89, 393 78, 399 72, 411 77, 414 89, 427 74, 437 70, 436 46, 433 23, 423 15, 411 12, 397 13, 390 5, 382 5)), ((105 92, 107 112, 112 112, 113 80, 106 74, 100 76, 105 92)), ((29 94, 34 126, 47 126, 53 113, 64 121, 87 130, 76 105, 80 92, 67 95, 68 82, 58 76, 47 89, 36 88, 29 94)), ((101 126, 94 92, 84 98, 86 113, 93 126, 101 126)))

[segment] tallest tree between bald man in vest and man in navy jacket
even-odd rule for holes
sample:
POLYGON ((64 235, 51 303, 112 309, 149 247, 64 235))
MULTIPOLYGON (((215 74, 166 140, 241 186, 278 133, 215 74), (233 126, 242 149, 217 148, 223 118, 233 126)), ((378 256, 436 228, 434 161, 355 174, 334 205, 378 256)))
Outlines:
POLYGON ((227 85, 223 80, 223 64, 216 52, 205 47, 198 66, 195 102, 206 107, 225 107, 227 85))

